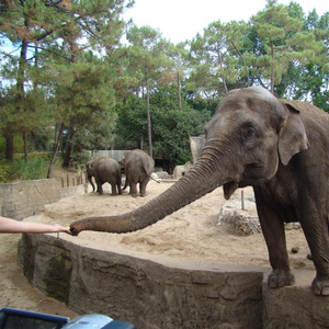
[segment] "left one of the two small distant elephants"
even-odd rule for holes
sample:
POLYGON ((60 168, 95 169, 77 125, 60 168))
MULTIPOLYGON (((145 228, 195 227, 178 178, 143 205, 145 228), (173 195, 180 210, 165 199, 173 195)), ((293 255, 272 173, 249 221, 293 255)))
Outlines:
POLYGON ((92 185, 92 191, 94 191, 94 184, 92 182, 92 177, 94 177, 99 194, 103 194, 103 184, 110 183, 112 188, 112 195, 122 194, 122 174, 121 167, 117 161, 109 157, 101 157, 86 164, 88 181, 92 185))

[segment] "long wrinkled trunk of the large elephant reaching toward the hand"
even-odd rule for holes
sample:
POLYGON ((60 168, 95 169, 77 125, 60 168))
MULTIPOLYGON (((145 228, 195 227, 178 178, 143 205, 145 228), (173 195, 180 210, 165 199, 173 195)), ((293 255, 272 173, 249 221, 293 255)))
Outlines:
POLYGON ((129 232, 163 219, 216 188, 232 181, 232 178, 228 177, 226 171, 218 168, 225 167, 219 159, 223 158, 218 155, 218 148, 207 146, 197 163, 158 197, 123 215, 88 217, 75 220, 70 225, 72 235, 78 235, 82 230, 129 232))

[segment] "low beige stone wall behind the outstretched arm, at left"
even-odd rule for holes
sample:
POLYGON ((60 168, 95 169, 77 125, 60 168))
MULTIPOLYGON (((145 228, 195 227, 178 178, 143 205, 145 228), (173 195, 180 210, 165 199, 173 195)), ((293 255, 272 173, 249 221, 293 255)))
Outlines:
POLYGON ((76 194, 82 195, 87 189, 86 184, 61 188, 55 179, 0 184, 0 215, 22 220, 46 204, 76 194))

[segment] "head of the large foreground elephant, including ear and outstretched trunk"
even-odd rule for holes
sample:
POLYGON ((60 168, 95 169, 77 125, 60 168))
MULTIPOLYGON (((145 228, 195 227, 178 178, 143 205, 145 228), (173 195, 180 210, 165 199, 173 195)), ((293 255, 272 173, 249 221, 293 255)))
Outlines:
POLYGON ((135 231, 222 185, 229 198, 237 188, 271 180, 280 161, 286 166, 295 154, 308 148, 298 111, 258 87, 229 92, 205 131, 202 154, 175 184, 131 213, 75 220, 72 234, 135 231))

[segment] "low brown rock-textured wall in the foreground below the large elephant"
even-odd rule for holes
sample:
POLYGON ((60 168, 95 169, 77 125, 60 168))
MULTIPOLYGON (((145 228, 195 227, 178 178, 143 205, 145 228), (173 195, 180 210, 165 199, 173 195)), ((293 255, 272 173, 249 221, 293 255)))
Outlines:
POLYGON ((272 290, 262 268, 79 243, 66 235, 24 235, 19 243, 29 281, 78 314, 103 314, 140 329, 329 328, 329 297, 310 291, 313 271, 295 271, 295 285, 272 290))

